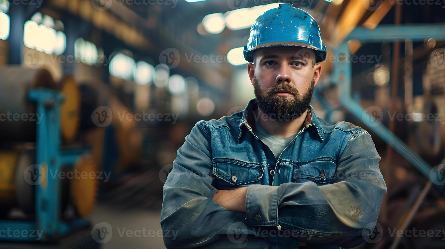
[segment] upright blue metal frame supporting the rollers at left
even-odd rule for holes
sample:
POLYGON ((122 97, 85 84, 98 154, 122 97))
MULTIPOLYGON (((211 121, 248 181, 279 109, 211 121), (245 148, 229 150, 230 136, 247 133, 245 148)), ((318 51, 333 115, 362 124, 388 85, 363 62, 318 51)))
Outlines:
MULTIPOLYGON (((59 172, 62 166, 73 166, 77 157, 87 153, 82 149, 60 149, 60 104, 64 100, 62 93, 49 89, 33 89, 28 99, 36 102, 36 112, 42 116, 40 124, 36 124, 36 164, 44 169, 44 181, 35 187, 35 221, 0 220, 0 227, 18 230, 42 230, 40 241, 51 241, 67 235, 74 230, 85 227, 87 221, 76 218, 61 221, 60 190, 61 179, 52 177, 49 170, 59 172)), ((40 176, 36 176, 40 177, 40 176)), ((38 181, 38 178, 37 178, 38 181)), ((8 241, 36 241, 37 237, 2 237, 8 241)))

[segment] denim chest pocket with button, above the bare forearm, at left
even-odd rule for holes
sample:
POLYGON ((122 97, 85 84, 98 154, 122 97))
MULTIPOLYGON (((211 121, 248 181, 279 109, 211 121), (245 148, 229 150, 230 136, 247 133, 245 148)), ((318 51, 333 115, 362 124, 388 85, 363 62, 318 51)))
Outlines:
POLYGON ((257 184, 263 178, 263 169, 255 164, 214 162, 212 171, 216 189, 234 189, 257 184))

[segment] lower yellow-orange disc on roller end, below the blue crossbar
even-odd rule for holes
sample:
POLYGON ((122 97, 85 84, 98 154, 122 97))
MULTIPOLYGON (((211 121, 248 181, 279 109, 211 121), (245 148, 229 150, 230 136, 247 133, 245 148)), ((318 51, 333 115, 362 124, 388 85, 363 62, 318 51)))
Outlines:
POLYGON ((96 204, 97 194, 97 167, 90 155, 77 158, 73 167, 76 177, 73 177, 70 185, 70 194, 80 217, 86 217, 91 213, 96 204), (86 176, 86 177, 85 177, 86 176))

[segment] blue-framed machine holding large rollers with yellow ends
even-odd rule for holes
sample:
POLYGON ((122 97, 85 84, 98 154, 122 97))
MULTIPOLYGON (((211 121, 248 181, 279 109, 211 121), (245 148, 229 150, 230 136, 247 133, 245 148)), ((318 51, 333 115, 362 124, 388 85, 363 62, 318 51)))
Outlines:
POLYGON ((68 149, 61 139, 68 143, 77 133, 76 83, 68 78, 57 86, 45 69, 6 67, 0 73, 8 75, 0 80, 0 113, 6 114, 0 122, 0 228, 36 232, 7 233, 0 240, 57 243, 84 231, 81 245, 97 248, 84 219, 96 200, 97 179, 81 177, 96 173, 96 163, 90 149, 68 149))

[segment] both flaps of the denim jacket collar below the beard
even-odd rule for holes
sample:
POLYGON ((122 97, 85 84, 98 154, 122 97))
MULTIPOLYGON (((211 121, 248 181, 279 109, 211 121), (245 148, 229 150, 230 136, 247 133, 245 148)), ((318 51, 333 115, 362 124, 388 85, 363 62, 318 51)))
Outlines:
MULTIPOLYGON (((247 102, 246 108, 244 108, 244 111, 243 111, 243 116, 241 117, 241 120, 239 122, 238 142, 239 142, 239 139, 241 138, 241 133, 243 132, 243 126, 246 126, 246 128, 249 130, 252 129, 251 124, 254 121, 253 110, 255 110, 255 108, 257 108, 257 107, 258 107, 258 105, 256 103, 255 98, 253 98, 253 99, 249 100, 249 102, 247 102)), ((315 130, 314 129, 309 129, 309 130, 316 131, 316 133, 318 135, 317 137, 319 137, 320 141, 323 142, 323 137, 321 136, 320 129, 319 129, 319 126, 321 125, 320 121, 318 120, 317 116, 315 115, 312 105, 309 104, 308 109, 309 109, 308 114, 310 114, 310 115, 306 116, 306 120, 304 121, 303 127, 314 126, 315 130)))

